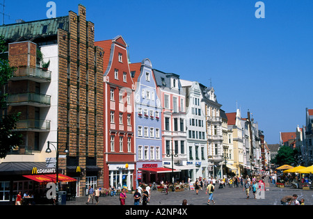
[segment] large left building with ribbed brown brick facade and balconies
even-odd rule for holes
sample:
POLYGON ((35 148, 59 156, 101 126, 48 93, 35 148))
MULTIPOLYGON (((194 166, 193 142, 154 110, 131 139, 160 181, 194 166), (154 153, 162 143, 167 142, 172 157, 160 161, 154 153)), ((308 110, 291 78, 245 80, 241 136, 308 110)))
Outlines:
POLYGON ((17 67, 7 86, 6 113, 22 113, 15 131, 23 144, 0 161, 0 181, 12 186, 8 201, 17 190, 39 193, 42 188, 23 175, 33 175, 33 168, 56 172, 51 159, 59 173, 75 179, 62 183, 62 190, 79 196, 89 185, 102 185, 103 51, 95 47, 86 8, 79 5, 78 15, 0 26, 0 35, 10 65, 17 67))

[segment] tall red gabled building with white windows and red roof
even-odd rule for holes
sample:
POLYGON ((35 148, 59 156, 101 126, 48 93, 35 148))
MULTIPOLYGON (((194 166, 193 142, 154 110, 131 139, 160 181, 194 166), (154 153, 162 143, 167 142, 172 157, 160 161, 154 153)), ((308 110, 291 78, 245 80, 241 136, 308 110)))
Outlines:
POLYGON ((104 49, 104 188, 135 187, 134 82, 122 36, 95 42, 104 49))

